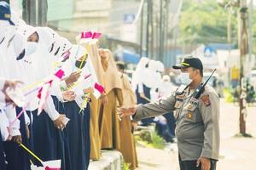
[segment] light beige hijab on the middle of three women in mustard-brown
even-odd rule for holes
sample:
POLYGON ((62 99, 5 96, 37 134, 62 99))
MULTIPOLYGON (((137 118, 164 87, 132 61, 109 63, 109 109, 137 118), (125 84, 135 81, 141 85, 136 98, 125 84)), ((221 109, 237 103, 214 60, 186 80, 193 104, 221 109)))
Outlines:
POLYGON ((103 70, 105 71, 105 90, 108 94, 113 88, 122 89, 122 81, 115 65, 113 54, 109 49, 99 49, 103 70))

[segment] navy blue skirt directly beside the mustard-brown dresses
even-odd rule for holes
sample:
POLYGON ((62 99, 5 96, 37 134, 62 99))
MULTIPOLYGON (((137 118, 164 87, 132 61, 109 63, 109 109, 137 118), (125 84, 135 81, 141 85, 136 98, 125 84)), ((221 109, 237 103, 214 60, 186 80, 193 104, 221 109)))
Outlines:
POLYGON ((64 103, 72 169, 86 170, 90 161, 90 106, 79 113, 75 101, 64 103))

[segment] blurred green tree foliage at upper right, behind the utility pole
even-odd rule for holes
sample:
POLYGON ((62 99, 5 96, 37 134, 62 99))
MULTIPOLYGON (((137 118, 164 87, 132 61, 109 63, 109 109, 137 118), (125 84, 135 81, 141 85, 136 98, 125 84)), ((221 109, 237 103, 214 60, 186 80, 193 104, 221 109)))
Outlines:
MULTIPOLYGON (((217 1, 203 0, 195 3, 183 1, 180 18, 181 40, 183 42, 207 43, 227 42, 228 10, 217 1)), ((232 14, 232 37, 236 37, 236 10, 232 14)))

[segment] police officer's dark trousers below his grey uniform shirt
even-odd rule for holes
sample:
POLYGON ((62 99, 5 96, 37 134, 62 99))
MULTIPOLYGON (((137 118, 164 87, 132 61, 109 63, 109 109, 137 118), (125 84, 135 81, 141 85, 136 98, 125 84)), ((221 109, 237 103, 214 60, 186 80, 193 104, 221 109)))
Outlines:
MULTIPOLYGON (((178 156, 179 167, 180 170, 201 170, 201 165, 196 167, 196 161, 181 161, 180 156, 178 156)), ((217 161, 211 160, 211 167, 210 170, 216 170, 216 163, 217 161)))

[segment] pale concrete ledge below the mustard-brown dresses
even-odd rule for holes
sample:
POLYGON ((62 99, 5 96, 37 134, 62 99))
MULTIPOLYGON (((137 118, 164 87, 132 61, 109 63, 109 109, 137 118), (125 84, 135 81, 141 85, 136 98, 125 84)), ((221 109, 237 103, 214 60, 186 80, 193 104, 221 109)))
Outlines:
POLYGON ((121 170, 123 156, 117 150, 102 150, 99 161, 90 161, 89 170, 121 170))

